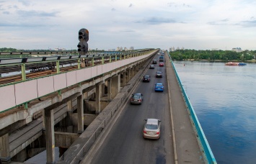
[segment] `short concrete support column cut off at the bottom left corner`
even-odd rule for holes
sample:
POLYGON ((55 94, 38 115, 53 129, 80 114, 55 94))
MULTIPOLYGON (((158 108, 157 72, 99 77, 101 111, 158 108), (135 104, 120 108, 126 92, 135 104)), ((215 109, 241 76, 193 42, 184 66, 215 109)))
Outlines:
POLYGON ((0 163, 11 162, 8 133, 0 137, 0 145, 0 163))

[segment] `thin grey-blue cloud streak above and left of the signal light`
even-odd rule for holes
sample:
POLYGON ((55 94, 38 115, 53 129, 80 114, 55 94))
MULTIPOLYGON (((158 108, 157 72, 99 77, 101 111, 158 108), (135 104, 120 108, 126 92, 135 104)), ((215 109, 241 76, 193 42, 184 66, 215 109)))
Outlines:
POLYGON ((56 17, 56 14, 58 14, 58 12, 40 12, 35 10, 18 10, 17 13, 22 17, 56 17))

